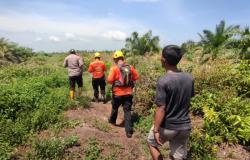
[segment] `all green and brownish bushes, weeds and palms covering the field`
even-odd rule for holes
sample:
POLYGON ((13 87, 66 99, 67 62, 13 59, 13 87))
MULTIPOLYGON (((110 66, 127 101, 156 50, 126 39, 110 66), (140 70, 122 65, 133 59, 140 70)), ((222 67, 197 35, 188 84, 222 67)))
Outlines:
MULTIPOLYGON (((216 154, 224 143, 250 144, 249 33, 249 27, 226 27, 221 21, 215 32, 204 30, 200 42, 190 40, 182 44, 185 55, 179 67, 190 72, 195 79, 189 159, 217 159, 216 154)), ((147 157, 145 139, 155 110, 155 84, 165 71, 161 67, 160 54, 146 53, 158 52, 158 42, 159 38, 152 37, 151 32, 142 37, 135 32, 127 39, 125 48, 127 62, 135 64, 140 73, 132 110, 134 128, 141 138, 140 149, 147 157)), ((78 120, 64 121, 61 113, 67 109, 89 108, 91 82, 90 78, 85 78, 84 96, 69 101, 67 72, 61 66, 65 54, 35 55, 32 50, 4 39, 0 40, 0 54, 0 159, 10 159, 15 147, 27 144, 27 140, 39 131, 52 128, 59 133, 63 128, 80 125, 78 120), (21 53, 17 50, 24 53, 17 54, 21 53)), ((81 56, 86 71, 93 56, 90 53, 81 56)), ((110 52, 104 53, 103 59, 110 67, 110 52)), ((87 76, 84 73, 84 77, 87 76)), ((111 97, 110 86, 107 97, 111 97)), ((111 129, 97 118, 90 123, 103 133, 111 129)), ((28 157, 64 158, 65 150, 76 145, 77 140, 75 136, 35 140, 31 146, 33 153, 28 157)), ((124 148, 122 144, 90 138, 83 150, 85 159, 116 159, 124 148), (110 152, 103 154, 106 148, 110 152)), ((233 153, 227 153, 227 156, 234 157, 233 153)))

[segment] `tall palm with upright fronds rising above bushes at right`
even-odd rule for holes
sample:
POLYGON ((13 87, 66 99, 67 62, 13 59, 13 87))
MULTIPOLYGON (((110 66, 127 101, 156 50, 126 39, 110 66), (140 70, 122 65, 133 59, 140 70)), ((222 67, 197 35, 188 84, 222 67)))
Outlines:
POLYGON ((234 31, 239 29, 239 26, 231 25, 226 27, 225 21, 220 21, 216 25, 215 32, 210 30, 203 30, 203 35, 199 34, 201 41, 200 44, 203 46, 203 55, 211 54, 212 60, 214 60, 219 52, 225 46, 225 42, 234 36, 234 31))

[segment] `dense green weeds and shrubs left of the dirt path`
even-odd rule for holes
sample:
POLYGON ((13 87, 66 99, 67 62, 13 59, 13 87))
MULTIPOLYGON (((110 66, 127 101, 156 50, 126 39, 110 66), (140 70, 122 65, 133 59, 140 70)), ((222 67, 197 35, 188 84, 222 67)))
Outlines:
POLYGON ((61 123, 62 111, 89 106, 88 97, 69 101, 61 57, 37 55, 0 69, 0 159, 9 159, 13 148, 25 144, 32 134, 61 123))

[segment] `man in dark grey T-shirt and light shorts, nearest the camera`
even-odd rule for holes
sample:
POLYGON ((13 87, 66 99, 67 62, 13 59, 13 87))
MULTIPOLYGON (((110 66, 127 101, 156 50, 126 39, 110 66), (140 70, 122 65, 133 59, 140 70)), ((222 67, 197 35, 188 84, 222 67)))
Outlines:
POLYGON ((169 141, 171 159, 187 158, 187 142, 191 131, 188 113, 190 99, 194 96, 194 80, 190 74, 177 69, 181 58, 178 46, 169 45, 162 51, 161 62, 166 74, 157 82, 157 108, 148 135, 149 149, 154 160, 163 159, 158 147, 166 141, 169 141))

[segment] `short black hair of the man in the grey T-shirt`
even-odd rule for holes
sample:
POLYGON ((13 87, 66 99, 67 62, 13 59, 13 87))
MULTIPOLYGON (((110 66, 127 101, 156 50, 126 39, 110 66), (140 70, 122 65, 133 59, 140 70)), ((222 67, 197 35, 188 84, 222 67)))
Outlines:
POLYGON ((168 45, 163 48, 162 56, 165 58, 168 64, 176 66, 182 58, 182 51, 179 46, 168 45))

